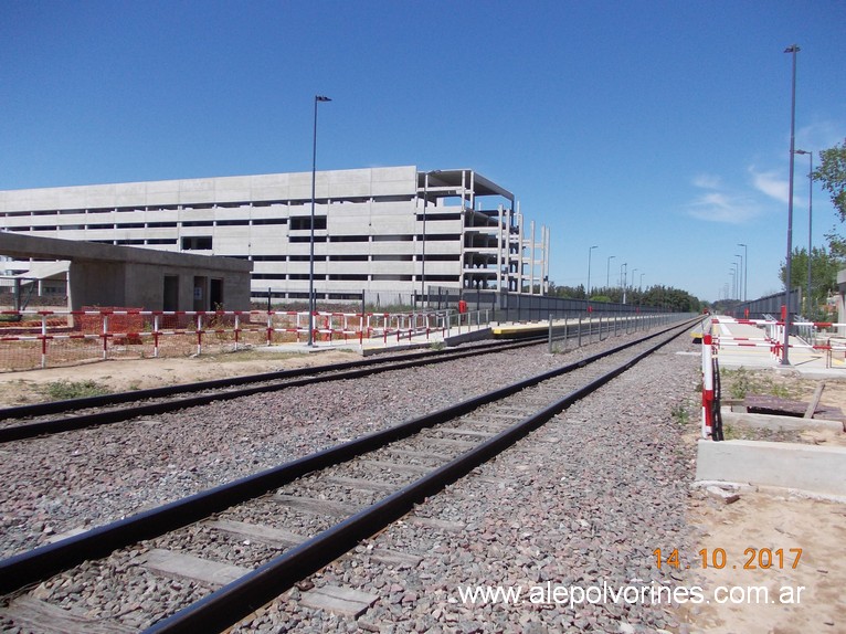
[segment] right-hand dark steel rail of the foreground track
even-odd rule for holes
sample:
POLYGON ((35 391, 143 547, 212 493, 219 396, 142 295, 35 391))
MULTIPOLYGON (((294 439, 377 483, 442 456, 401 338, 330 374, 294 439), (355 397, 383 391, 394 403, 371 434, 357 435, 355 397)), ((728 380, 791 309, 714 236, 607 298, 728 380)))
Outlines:
POLYGON ((376 535, 403 517, 413 509, 415 504, 422 503, 425 498, 466 476, 480 464, 504 452, 575 401, 631 369, 680 334, 681 330, 396 493, 292 548, 176 614, 155 623, 145 630, 145 634, 220 632, 234 625, 290 589, 297 581, 314 574, 355 548, 361 540, 376 535))

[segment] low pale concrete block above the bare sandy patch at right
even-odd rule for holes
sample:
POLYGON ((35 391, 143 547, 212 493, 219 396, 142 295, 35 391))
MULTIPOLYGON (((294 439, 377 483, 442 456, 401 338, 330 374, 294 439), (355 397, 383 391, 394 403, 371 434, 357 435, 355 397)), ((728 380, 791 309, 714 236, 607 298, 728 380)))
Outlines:
POLYGON ((846 496, 846 447, 762 441, 701 441, 696 479, 846 496))

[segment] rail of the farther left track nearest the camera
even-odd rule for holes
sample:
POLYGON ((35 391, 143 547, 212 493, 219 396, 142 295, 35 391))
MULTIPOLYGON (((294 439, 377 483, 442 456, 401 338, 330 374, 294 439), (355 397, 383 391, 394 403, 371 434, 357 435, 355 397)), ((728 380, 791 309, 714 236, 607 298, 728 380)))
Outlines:
MULTIPOLYGON (((317 376, 315 376, 315 368, 303 368, 297 370, 284 370, 282 372, 290 372, 288 374, 290 377, 290 380, 287 380, 285 382, 276 382, 276 383, 265 383, 260 385, 253 385, 247 388, 240 388, 240 389, 233 389, 228 390, 223 392, 213 392, 208 394, 198 394, 194 397, 186 397, 181 399, 171 399, 169 401, 159 401, 154 403, 145 403, 135 405, 131 408, 119 408, 119 409, 113 409, 113 410, 106 410, 103 412, 91 412, 91 413, 84 413, 78 415, 71 415, 62 419, 52 419, 47 421, 39 421, 34 423, 23 423, 19 425, 9 425, 6 427, 0 427, 0 444, 8 443, 12 441, 20 441, 24 438, 31 438, 35 436, 40 436, 42 434, 57 434, 63 432, 70 432, 74 430, 81 430, 85 427, 93 427, 97 425, 108 425, 113 423, 120 423, 124 421, 127 421, 129 419, 138 418, 138 416, 150 416, 156 414, 162 414, 166 412, 171 412, 175 410, 183 410, 188 408, 195 408, 199 405, 208 405, 209 403, 212 403, 214 401, 226 401, 232 399, 239 399, 241 397, 252 397, 254 394, 261 394, 261 393, 268 393, 268 392, 276 392, 281 390, 286 390, 288 388, 296 388, 300 385, 309 385, 315 383, 327 383, 330 381, 342 381, 342 380, 349 380, 349 379, 358 379, 361 377, 368 377, 372 374, 378 374, 382 372, 391 372, 394 370, 402 370, 406 368, 414 368, 416 366, 427 366, 433 363, 444 363, 446 361, 454 361, 458 359, 464 359, 467 357, 475 357, 477 355, 487 355, 493 352, 501 352, 501 351, 508 351, 514 350, 522 347, 528 346, 535 346, 537 345, 537 341, 521 341, 518 344, 511 344, 501 346, 499 348, 491 347, 491 348, 485 348, 483 352, 477 351, 476 348, 467 349, 463 351, 451 351, 450 356, 445 357, 421 357, 420 355, 403 355, 403 359, 400 359, 393 363, 385 362, 384 359, 378 360, 378 363, 364 363, 362 367, 362 363, 360 362, 348 362, 348 363, 340 363, 338 366, 320 366, 320 369, 318 370, 317 376), (374 366, 376 367, 371 367, 374 366), (339 367, 346 366, 348 368, 355 368, 355 369, 340 369, 339 367)), ((276 372, 274 372, 276 374, 276 372)), ((267 378, 263 374, 253 374, 253 377, 260 377, 257 380, 267 380, 267 378)), ((241 379, 244 379, 241 377, 241 379)), ((273 380, 273 379, 272 379, 273 380)), ((225 380, 221 380, 225 381, 225 380)), ((218 381, 205 381, 203 383, 192 383, 192 385, 199 385, 199 384, 208 384, 208 383, 215 383, 218 381)), ((242 381, 247 382, 247 381, 242 381)), ((175 388, 175 385, 171 385, 170 388, 175 388)), ((163 388, 161 390, 168 390, 170 388, 163 388)), ((152 392, 155 390, 145 390, 145 392, 152 392)), ((189 391, 195 391, 195 390, 189 390, 189 391)), ((120 395, 124 394, 131 397, 135 395, 136 398, 133 399, 133 401, 144 400, 145 398, 150 398, 149 394, 144 395, 142 392, 123 392, 120 395)), ((96 399, 98 397, 91 397, 91 399, 96 399)), ((83 406, 82 401, 87 401, 87 399, 74 399, 72 401, 60 401, 62 403, 74 403, 76 402, 78 406, 83 406)), ((116 404, 119 401, 115 401, 113 404, 116 404)), ((129 399, 125 399, 124 402, 130 402, 129 399)), ((89 404, 87 406, 91 406, 89 404)))

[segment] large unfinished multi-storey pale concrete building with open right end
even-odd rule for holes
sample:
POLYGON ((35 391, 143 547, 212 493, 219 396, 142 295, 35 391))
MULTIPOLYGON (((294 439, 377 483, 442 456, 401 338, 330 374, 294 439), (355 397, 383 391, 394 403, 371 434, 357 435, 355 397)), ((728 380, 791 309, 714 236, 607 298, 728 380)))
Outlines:
MULTIPOLYGON (((253 262, 252 293, 307 298, 311 172, 0 191, 6 231, 253 262)), ((435 286, 543 292, 549 233, 469 169, 318 171, 318 299, 435 286)), ((23 262, 7 268, 25 270, 23 262)))

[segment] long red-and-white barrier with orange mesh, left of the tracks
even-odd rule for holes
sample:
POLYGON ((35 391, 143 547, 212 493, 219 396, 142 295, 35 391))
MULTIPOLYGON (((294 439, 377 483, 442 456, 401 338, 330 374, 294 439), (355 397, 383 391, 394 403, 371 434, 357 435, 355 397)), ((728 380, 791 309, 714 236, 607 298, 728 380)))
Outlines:
MULTIPOLYGON (((487 311, 485 311, 487 313, 487 311)), ((139 309, 99 310, 3 310, 0 315, 17 317, 6 328, 0 328, 0 369, 47 367, 47 359, 63 351, 60 362, 72 360, 108 359, 120 355, 159 357, 170 351, 173 342, 181 341, 184 355, 188 341, 197 355, 203 353, 210 344, 239 349, 244 345, 271 346, 282 341, 308 339, 309 314, 307 311, 276 310, 215 310, 169 311, 139 309), (72 346, 72 342, 77 345, 72 346), (97 345, 96 342, 99 342, 97 345), (168 344, 167 350, 163 345, 168 344), (15 347, 15 345, 19 345, 15 347), (40 348, 40 360, 30 359, 33 345, 40 348), (59 347, 56 347, 59 346, 59 347), (17 348, 17 349, 15 349, 17 348), (11 357, 10 357, 11 356, 11 357), (14 358, 15 362, 9 359, 14 358)), ((485 315, 489 320, 489 315, 485 315)), ((404 338, 433 332, 446 335, 458 319, 459 331, 470 327, 472 314, 458 315, 442 310, 412 314, 349 314, 315 313, 313 341, 316 345, 358 339, 404 338)), ((477 325, 483 321, 476 315, 477 325)), ((487 321, 485 321, 487 323, 487 321)), ((220 347, 220 346, 219 346, 220 347)))

